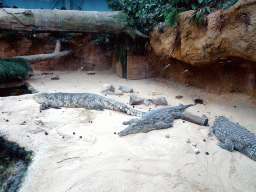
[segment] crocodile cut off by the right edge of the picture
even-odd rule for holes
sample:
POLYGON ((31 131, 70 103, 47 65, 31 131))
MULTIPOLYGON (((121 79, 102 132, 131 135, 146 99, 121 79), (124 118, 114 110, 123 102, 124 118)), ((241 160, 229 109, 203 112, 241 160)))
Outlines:
POLYGON ((215 119, 209 136, 216 135, 218 146, 227 151, 237 150, 256 161, 256 137, 245 127, 229 121, 224 116, 215 119))

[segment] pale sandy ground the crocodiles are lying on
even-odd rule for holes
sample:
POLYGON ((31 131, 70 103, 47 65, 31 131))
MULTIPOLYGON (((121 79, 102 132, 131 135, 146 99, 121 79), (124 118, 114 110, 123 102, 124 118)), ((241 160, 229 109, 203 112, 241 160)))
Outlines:
MULTIPOLYGON (((243 94, 214 95, 162 79, 128 81, 108 72, 54 74, 60 80, 52 81, 53 75, 35 75, 28 82, 46 92, 97 94, 106 83, 116 89, 128 85, 143 98, 163 95, 170 106, 192 103, 196 94, 206 105, 190 107, 187 112, 206 114, 210 125, 217 116, 225 115, 256 133, 256 106, 243 94), (176 95, 184 98, 175 99, 176 95)), ((129 96, 107 97, 127 104, 129 96)), ((159 107, 135 108, 148 111, 159 107)), ((175 120, 170 129, 119 137, 114 132, 123 130, 122 122, 132 116, 78 108, 40 113, 33 95, 0 98, 0 113, 1 134, 35 152, 22 192, 256 191, 256 162, 218 147, 216 137, 207 136, 209 127, 175 120), (187 139, 197 144, 199 154, 187 139)))

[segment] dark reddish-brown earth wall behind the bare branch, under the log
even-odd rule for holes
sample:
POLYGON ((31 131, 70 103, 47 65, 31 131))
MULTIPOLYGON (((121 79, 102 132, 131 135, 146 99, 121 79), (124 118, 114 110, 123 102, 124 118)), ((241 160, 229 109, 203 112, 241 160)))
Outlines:
MULTIPOLYGON (((62 50, 72 50, 72 55, 59 59, 32 63, 33 70, 83 70, 104 71, 112 65, 112 51, 102 51, 94 44, 91 35, 72 34, 69 43, 62 43, 62 50)), ((47 54, 54 52, 55 41, 48 34, 39 34, 37 38, 27 39, 24 34, 14 41, 0 39, 0 58, 20 55, 47 54)))

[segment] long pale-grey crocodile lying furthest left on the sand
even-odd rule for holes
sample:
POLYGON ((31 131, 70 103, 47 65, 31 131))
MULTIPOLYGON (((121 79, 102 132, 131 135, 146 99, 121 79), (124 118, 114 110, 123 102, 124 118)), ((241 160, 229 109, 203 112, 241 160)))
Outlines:
POLYGON ((96 110, 110 109, 139 117, 145 114, 145 112, 131 109, 114 99, 93 93, 37 93, 34 95, 34 99, 41 104, 40 112, 48 108, 77 107, 96 110))

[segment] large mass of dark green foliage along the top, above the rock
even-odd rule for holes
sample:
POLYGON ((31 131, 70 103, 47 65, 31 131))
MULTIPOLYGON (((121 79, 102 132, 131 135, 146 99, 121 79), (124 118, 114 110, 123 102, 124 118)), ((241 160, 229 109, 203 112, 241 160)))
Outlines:
POLYGON ((178 14, 188 10, 196 10, 191 20, 199 24, 206 20, 210 13, 207 7, 229 8, 237 0, 106 0, 110 9, 123 11, 126 24, 137 28, 148 35, 154 26, 165 22, 173 26, 178 14), (202 17, 201 19, 199 17, 202 17))

